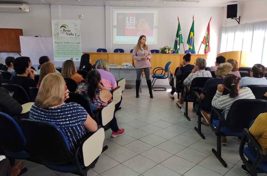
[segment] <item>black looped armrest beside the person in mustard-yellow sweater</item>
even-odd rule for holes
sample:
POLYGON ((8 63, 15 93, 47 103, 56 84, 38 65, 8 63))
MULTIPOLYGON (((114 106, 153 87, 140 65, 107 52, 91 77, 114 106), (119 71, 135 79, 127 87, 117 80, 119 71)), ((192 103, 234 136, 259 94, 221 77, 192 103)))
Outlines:
POLYGON ((260 146, 259 142, 255 139, 255 137, 246 128, 243 130, 243 135, 242 135, 241 143, 239 146, 239 155, 242 159, 242 162, 244 162, 244 164, 248 167, 249 170, 256 169, 258 167, 259 163, 261 162, 262 157, 263 157, 262 147, 260 146), (243 152, 247 138, 255 146, 256 151, 257 151, 257 155, 256 155, 255 161, 253 163, 251 163, 252 161, 248 162, 248 160, 245 158, 244 152, 243 152))

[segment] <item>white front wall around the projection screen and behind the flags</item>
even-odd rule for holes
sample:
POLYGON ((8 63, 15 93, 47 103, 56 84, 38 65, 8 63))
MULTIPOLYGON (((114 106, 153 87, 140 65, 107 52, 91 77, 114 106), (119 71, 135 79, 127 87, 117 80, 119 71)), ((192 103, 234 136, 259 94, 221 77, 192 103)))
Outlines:
MULTIPOLYGON (((113 9, 115 8, 121 9, 123 7, 113 7, 113 9)), ((128 8, 128 9, 137 9, 137 8, 128 8)), ((147 9, 147 8, 138 8, 138 9, 147 9)), ((212 16, 210 22, 211 52, 208 53, 207 66, 214 65, 214 60, 219 51, 218 44, 221 36, 223 8, 151 8, 151 9, 158 10, 158 43, 155 45, 150 44, 149 45, 150 49, 159 49, 160 47, 166 45, 173 48, 178 25, 178 20, 177 20, 177 15, 178 15, 183 33, 185 50, 188 50, 188 44, 186 42, 189 30, 192 25, 192 18, 194 14, 195 50, 196 52, 198 52, 199 46, 206 32, 208 22, 210 20, 210 17, 212 16)), ((106 24, 107 22, 112 21, 112 15, 109 15, 109 17, 110 19, 106 19, 106 24)), ((107 30, 112 30, 112 28, 110 27, 107 30)), ((108 33, 110 34, 112 32, 108 33)), ((110 35, 106 37, 108 38, 112 36, 110 35)), ((111 38, 111 40, 109 41, 113 41, 113 39, 111 38)), ((123 48, 125 52, 129 52, 131 49, 133 49, 135 45, 136 44, 112 44, 111 48, 107 49, 109 51, 113 51, 115 48, 123 48)), ((107 47, 109 47, 109 45, 107 45, 107 47)), ((184 53, 183 47, 181 48, 180 53, 184 53)), ((199 53, 204 54, 204 45, 202 45, 199 53)))

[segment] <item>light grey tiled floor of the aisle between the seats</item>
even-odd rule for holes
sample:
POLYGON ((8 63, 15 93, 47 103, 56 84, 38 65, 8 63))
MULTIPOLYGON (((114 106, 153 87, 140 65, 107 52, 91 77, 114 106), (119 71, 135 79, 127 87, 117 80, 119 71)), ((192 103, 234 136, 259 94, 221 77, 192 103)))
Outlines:
MULTIPOLYGON (((240 168, 236 138, 228 137, 231 141, 222 147, 222 157, 228 164, 224 168, 211 152, 216 147, 216 137, 210 127, 202 125, 205 140, 194 130, 197 116, 192 104, 188 121, 166 91, 153 94, 151 99, 148 89, 143 88, 140 98, 135 98, 134 88, 125 89, 122 109, 116 113, 119 128, 124 128, 125 134, 111 138, 111 130, 105 132, 104 145, 108 149, 88 176, 247 176, 240 168)), ((74 176, 28 161, 24 165, 28 172, 23 176, 74 176)))

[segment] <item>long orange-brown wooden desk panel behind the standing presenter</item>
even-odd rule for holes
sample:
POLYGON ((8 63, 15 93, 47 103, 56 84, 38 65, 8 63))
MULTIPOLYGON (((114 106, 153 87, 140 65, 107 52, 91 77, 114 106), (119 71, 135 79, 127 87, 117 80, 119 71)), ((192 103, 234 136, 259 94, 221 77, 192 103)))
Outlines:
MULTIPOLYGON (((98 59, 106 59, 108 60, 109 64, 117 64, 122 65, 124 62, 132 63, 132 53, 110 53, 110 52, 84 52, 84 54, 90 54, 92 58, 92 63, 95 63, 98 59)), ((159 54, 159 53, 152 53, 151 58, 151 74, 153 73, 153 69, 156 67, 164 68, 166 63, 171 61, 170 70, 174 73, 175 69, 180 66, 180 63, 183 61, 183 56, 185 54, 159 54)), ((191 64, 194 64, 196 58, 204 58, 207 59, 207 54, 192 54, 191 55, 191 64)), ((136 61, 134 61, 136 63, 136 61)))

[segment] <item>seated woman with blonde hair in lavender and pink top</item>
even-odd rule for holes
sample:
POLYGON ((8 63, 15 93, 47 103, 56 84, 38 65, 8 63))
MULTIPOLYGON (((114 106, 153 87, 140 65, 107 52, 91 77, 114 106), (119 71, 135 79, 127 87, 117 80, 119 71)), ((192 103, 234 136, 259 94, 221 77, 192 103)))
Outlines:
POLYGON ((106 59, 100 59, 96 64, 96 69, 100 73, 101 82, 107 90, 111 91, 117 87, 113 74, 109 72, 109 65, 106 59))

